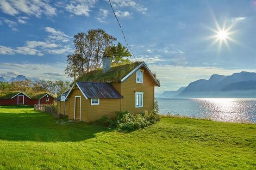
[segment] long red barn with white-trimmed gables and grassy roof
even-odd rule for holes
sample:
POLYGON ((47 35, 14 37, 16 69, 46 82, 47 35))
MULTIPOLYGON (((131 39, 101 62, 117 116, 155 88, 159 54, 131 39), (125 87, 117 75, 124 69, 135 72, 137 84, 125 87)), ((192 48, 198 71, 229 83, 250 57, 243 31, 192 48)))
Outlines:
POLYGON ((55 96, 47 92, 25 93, 22 91, 0 92, 0 105, 53 104, 55 96))

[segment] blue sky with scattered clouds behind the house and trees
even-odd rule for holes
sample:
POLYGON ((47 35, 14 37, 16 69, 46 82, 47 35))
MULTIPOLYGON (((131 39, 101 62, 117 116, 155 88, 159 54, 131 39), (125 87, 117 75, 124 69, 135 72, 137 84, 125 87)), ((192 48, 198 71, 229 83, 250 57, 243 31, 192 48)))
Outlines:
MULTIPOLYGON (((256 1, 111 0, 138 60, 176 90, 218 73, 256 71, 256 1), (216 23, 230 38, 219 46, 216 23)), ((0 75, 70 80, 73 36, 102 28, 125 45, 107 0, 0 0, 0 75)))

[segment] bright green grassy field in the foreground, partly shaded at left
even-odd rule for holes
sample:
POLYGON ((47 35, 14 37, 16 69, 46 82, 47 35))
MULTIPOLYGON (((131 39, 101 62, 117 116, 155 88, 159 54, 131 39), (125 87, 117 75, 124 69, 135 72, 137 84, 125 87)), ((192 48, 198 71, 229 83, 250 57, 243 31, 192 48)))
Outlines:
POLYGON ((255 170, 256 125, 163 118, 130 133, 0 106, 0 170, 255 170))

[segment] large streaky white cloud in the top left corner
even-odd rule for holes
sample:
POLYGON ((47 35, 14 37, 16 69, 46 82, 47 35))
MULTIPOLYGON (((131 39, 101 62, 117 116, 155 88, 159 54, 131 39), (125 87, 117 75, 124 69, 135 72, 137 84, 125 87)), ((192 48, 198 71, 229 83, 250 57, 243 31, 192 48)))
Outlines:
POLYGON ((43 13, 47 16, 56 15, 56 8, 42 0, 0 0, 0 9, 9 15, 17 15, 21 12, 40 17, 43 13))

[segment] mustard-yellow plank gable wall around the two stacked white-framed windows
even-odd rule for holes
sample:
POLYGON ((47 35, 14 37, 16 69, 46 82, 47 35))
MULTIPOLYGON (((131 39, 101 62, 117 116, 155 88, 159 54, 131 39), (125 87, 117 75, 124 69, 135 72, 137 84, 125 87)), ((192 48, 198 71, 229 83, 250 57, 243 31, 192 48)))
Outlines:
MULTIPOLYGON (((142 68, 143 69, 143 68, 142 68)), ((150 77, 150 74, 144 70, 143 83, 136 83, 136 72, 122 83, 121 94, 124 97, 121 99, 121 111, 130 111, 132 113, 140 113, 144 110, 152 110, 154 107, 154 89, 155 82, 150 77), (135 92, 144 92, 143 107, 135 107, 135 92)))

